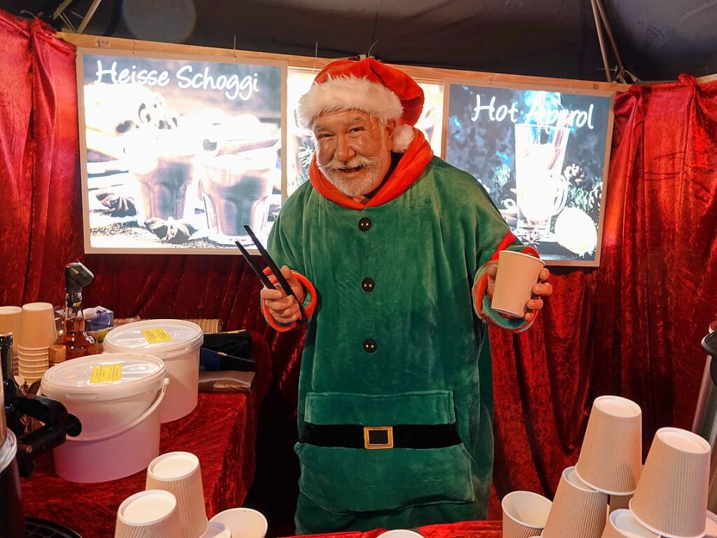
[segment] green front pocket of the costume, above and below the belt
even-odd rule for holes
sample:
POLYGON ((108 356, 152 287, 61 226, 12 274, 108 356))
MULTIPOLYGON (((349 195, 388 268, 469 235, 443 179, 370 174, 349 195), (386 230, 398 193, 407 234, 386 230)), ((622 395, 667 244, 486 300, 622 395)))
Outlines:
MULTIPOLYGON (((380 396, 310 392, 305 421, 319 428, 446 428, 455 425, 453 406, 451 391, 380 396)), ((379 449, 298 443, 299 488, 318 506, 335 514, 475 499, 471 458, 462 443, 402 448, 398 434, 394 443, 394 448, 379 449)))

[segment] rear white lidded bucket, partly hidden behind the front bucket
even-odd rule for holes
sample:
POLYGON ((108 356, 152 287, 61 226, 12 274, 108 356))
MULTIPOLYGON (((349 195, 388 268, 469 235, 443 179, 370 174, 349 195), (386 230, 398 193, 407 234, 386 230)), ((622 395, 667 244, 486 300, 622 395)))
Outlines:
POLYGON ((108 353, 148 353, 163 360, 169 387, 161 408, 161 420, 168 423, 189 415, 196 407, 199 348, 203 342, 201 327, 191 321, 148 319, 112 329, 103 345, 108 353), (153 339, 152 335, 158 338, 153 339))

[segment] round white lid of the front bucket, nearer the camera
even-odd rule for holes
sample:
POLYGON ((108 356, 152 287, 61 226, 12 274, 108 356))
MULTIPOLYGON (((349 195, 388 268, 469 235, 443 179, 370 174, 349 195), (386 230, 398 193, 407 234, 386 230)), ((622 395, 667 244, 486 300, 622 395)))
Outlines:
MULTIPOLYGON (((105 372, 107 370, 105 369, 105 372)), ((62 397, 72 400, 116 400, 151 390, 167 375, 164 362, 152 355, 129 353, 103 353, 87 355, 70 361, 61 362, 50 368, 42 376, 42 393, 49 397, 62 397), (99 381, 92 379, 99 367, 122 364, 121 372, 115 370, 115 379, 99 381)))

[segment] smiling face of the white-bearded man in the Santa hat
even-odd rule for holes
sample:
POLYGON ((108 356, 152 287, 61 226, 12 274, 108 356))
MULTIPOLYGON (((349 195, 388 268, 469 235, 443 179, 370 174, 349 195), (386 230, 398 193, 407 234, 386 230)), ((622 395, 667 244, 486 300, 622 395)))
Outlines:
POLYGON ((381 121, 361 110, 336 110, 318 115, 313 123, 316 162, 343 194, 369 194, 391 166, 396 123, 381 121))

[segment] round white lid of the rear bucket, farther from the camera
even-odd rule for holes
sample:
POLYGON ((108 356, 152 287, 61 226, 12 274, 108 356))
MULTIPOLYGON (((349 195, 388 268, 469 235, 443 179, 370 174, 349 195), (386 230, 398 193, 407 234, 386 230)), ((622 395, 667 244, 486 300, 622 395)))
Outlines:
POLYGON ((150 353, 161 359, 176 357, 189 349, 199 348, 204 341, 201 327, 191 321, 179 319, 147 319, 120 325, 105 336, 103 345, 107 351, 128 351, 130 353, 150 353), (143 331, 161 329, 169 339, 150 341, 143 331))

